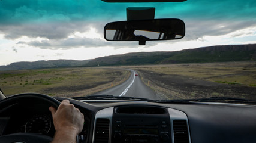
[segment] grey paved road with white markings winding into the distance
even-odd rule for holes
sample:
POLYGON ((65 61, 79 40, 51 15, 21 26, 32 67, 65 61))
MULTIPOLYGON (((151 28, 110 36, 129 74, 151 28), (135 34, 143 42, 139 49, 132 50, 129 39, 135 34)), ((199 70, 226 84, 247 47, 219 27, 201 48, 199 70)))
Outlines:
POLYGON ((156 100, 158 97, 155 91, 149 88, 149 86, 144 85, 140 79, 140 75, 135 76, 136 71, 130 70, 131 76, 121 85, 114 86, 113 88, 107 89, 105 91, 98 92, 94 95, 115 95, 115 96, 126 96, 126 97, 140 97, 156 100))

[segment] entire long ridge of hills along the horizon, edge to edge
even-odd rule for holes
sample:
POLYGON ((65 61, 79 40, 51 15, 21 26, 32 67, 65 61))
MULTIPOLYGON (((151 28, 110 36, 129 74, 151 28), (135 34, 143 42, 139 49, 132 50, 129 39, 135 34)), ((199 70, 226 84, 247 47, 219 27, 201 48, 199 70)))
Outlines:
POLYGON ((255 61, 256 44, 222 45, 174 52, 137 52, 99 57, 94 60, 50 60, 17 62, 0 66, 1 70, 41 69, 49 67, 90 67, 142 64, 207 63, 225 61, 255 61))

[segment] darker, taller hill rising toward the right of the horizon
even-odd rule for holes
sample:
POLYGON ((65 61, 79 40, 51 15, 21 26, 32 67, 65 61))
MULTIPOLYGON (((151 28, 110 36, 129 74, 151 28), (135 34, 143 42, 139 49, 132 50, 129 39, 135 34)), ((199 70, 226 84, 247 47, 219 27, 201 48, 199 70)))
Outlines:
POLYGON ((95 58, 86 66, 207 63, 256 60, 256 44, 209 46, 175 52, 137 52, 95 58))

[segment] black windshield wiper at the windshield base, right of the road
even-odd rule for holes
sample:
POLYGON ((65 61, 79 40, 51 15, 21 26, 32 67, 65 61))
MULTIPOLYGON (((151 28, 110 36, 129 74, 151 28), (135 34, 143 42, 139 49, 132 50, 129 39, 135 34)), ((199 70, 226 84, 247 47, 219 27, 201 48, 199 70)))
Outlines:
POLYGON ((243 98, 233 98, 233 97, 210 97, 210 98, 195 98, 195 99, 184 99, 184 100, 161 100, 159 102, 169 102, 169 103, 224 102, 224 103, 239 103, 239 104, 256 104, 256 100, 247 100, 243 98))

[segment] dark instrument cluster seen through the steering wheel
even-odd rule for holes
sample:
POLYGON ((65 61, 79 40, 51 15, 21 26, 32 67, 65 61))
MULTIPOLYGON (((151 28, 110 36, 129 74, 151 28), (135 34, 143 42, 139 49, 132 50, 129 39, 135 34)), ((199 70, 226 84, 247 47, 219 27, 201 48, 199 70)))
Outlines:
POLYGON ((47 108, 46 104, 12 105, 5 113, 8 125, 4 133, 41 133, 53 136, 55 130, 52 115, 47 108))

